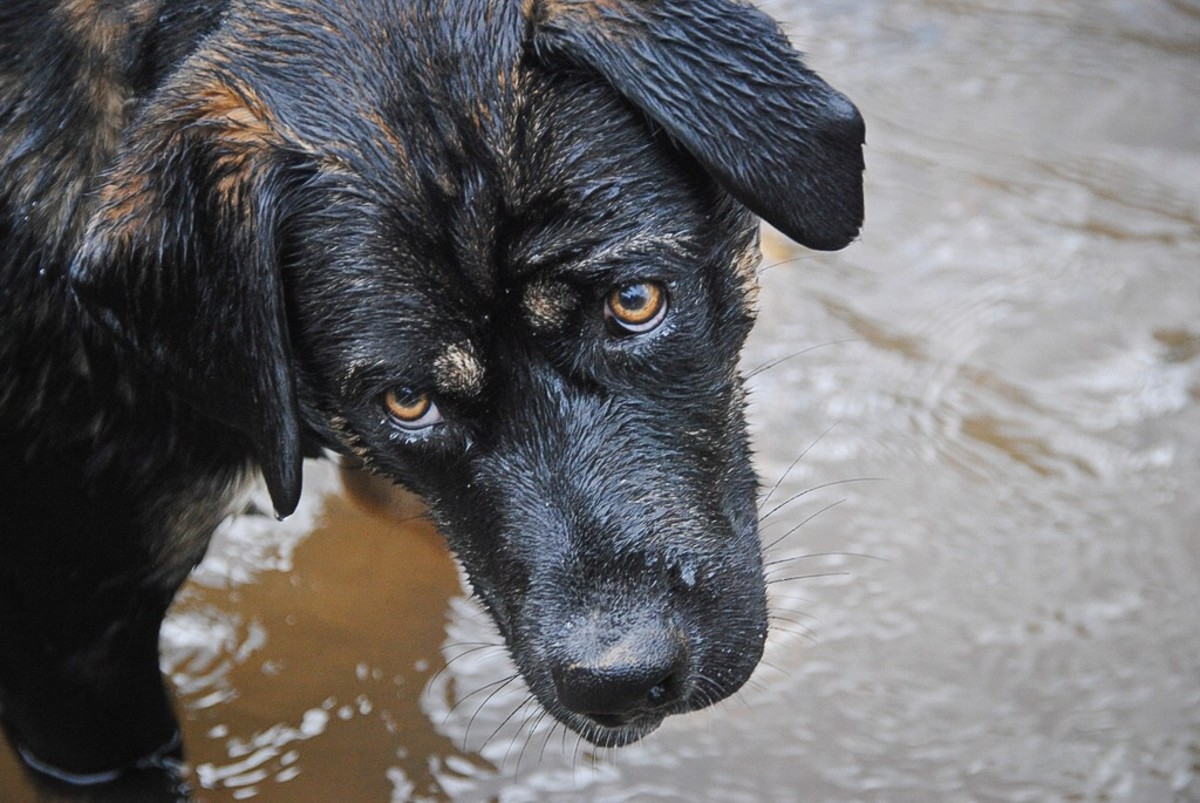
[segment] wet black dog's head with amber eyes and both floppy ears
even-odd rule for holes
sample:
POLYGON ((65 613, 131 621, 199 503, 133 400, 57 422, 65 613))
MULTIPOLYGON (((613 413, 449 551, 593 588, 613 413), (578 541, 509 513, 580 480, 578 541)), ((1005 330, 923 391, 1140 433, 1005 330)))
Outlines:
POLYGON ((398 5, 235 8, 73 287, 280 514, 308 444, 420 493, 538 699, 622 744, 761 655, 751 212, 846 245, 862 120, 728 0, 398 5))

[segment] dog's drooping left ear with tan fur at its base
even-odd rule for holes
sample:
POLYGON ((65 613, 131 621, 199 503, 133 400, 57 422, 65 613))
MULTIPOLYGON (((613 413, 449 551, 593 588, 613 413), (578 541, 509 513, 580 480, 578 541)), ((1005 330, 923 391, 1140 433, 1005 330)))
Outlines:
POLYGON ((247 437, 286 516, 302 454, 277 262, 282 145, 246 86, 164 88, 103 179, 70 281, 154 377, 247 437))

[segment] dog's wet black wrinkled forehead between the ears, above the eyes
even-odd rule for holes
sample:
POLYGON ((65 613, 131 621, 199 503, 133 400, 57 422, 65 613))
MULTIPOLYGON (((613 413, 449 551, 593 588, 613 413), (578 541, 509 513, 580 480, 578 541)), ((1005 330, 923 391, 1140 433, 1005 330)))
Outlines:
POLYGON ((366 322, 338 328, 343 389, 391 373, 479 397, 504 371, 497 326, 556 332, 616 282, 686 281, 704 266, 749 287, 752 260, 706 253, 742 236, 744 220, 714 212, 725 193, 612 86, 520 47, 481 48, 444 66, 452 74, 432 68, 463 44, 406 44, 374 68, 390 79, 318 109, 324 120, 301 120, 311 104, 277 106, 312 88, 264 78, 320 170, 296 218, 306 274, 366 322), (341 287, 347 275, 361 287, 341 287))

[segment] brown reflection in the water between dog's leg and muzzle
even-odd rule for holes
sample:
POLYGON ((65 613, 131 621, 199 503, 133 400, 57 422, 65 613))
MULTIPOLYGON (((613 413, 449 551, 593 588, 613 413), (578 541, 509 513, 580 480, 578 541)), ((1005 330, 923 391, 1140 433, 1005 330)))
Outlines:
MULTIPOLYGON (((485 766, 440 736, 419 706, 444 665, 445 610, 462 593, 457 570, 419 507, 406 509, 404 497, 365 475, 349 475, 347 486, 348 497, 324 499, 306 538, 276 539, 271 557, 289 570, 247 583, 221 582, 236 574, 228 567, 216 582, 202 573, 176 604, 164 660, 187 712, 197 789, 404 798, 439 793, 431 757, 485 766)), ((224 533, 217 557, 241 559, 244 551, 229 551, 240 534, 224 533)))

